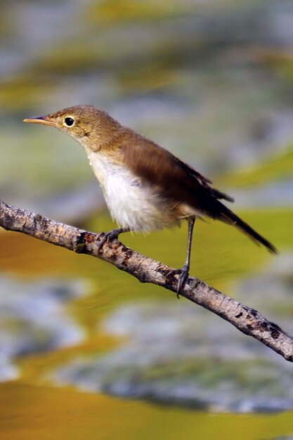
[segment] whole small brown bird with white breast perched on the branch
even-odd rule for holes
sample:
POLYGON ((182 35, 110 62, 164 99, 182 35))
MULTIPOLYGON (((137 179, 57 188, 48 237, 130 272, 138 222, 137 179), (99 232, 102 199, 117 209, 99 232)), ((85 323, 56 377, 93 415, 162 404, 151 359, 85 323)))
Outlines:
POLYGON ((236 226, 271 252, 275 247, 242 221, 220 200, 233 199, 211 187, 202 176, 169 151, 122 126, 92 105, 77 105, 24 122, 51 125, 69 134, 86 150, 89 163, 119 228, 105 240, 128 231, 155 231, 188 221, 188 250, 178 280, 181 291, 190 268, 190 249, 196 218, 209 216, 236 226))

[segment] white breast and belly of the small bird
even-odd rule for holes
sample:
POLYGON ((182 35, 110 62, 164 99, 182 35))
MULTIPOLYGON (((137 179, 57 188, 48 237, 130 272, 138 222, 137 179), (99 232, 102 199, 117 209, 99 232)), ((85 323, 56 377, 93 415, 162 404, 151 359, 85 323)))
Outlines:
POLYGON ((164 207, 162 197, 131 170, 113 162, 103 153, 89 150, 86 153, 112 218, 120 227, 147 232, 176 223, 164 207))

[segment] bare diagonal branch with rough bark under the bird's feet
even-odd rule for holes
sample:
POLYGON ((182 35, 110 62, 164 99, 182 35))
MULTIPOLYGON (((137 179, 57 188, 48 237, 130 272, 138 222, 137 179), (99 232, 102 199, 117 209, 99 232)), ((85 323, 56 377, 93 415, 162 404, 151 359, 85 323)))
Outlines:
MULTIPOLYGON (((141 283, 157 284, 176 292, 179 271, 145 257, 118 240, 105 242, 98 252, 104 233, 96 234, 67 224, 46 219, 40 214, 6 205, 0 200, 0 226, 65 247, 79 254, 88 254, 108 261, 141 283)), ((261 316, 259 311, 235 301, 201 280, 188 277, 181 295, 208 309, 234 325, 240 332, 258 339, 289 362, 293 362, 293 338, 278 325, 261 316)))

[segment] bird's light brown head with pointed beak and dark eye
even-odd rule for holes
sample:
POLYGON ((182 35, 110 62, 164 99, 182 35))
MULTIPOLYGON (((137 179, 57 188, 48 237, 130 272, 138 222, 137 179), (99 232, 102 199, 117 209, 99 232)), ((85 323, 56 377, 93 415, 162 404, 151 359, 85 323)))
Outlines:
POLYGON ((28 117, 23 122, 56 127, 93 151, 110 144, 121 127, 108 113, 93 105, 75 105, 50 115, 28 117))

